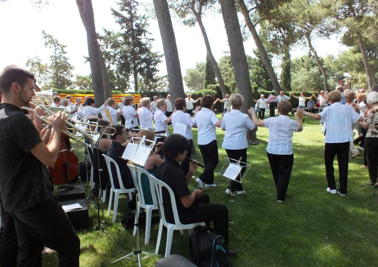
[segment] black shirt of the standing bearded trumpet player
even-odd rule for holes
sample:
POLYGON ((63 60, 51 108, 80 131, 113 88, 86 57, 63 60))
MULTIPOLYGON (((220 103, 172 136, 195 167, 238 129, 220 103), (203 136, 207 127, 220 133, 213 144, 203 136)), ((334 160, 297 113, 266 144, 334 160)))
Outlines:
POLYGON ((48 169, 30 150, 42 142, 22 109, 0 103, 0 195, 7 212, 20 212, 51 197, 48 169))

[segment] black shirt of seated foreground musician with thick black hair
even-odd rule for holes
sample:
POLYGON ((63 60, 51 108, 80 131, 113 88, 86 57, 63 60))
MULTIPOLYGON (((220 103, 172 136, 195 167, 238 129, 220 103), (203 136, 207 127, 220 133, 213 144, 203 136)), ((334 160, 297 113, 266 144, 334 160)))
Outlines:
MULTIPOLYGON (((186 185, 186 177, 180 169, 180 165, 175 160, 166 160, 157 170, 156 177, 165 182, 173 191, 176 200, 177 212, 179 218, 183 218, 190 214, 193 205, 190 208, 182 206, 180 197, 190 195, 191 191, 186 185)), ((172 204, 169 193, 163 189, 163 206, 167 221, 173 223, 172 204)))

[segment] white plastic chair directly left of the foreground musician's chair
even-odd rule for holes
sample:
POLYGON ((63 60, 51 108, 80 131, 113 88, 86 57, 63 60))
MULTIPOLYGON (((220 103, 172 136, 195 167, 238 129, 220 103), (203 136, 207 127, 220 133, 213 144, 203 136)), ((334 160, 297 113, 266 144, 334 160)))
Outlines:
MULTIPOLYGON (((130 166, 129 168, 130 168, 130 170, 132 170, 132 174, 133 174, 133 177, 134 177, 135 166, 130 166)), ((152 181, 152 178, 150 177, 150 175, 152 175, 152 174, 150 174, 145 169, 137 167, 137 177, 134 177, 134 182, 138 183, 138 193, 139 193, 137 211, 139 211, 140 208, 146 210, 146 233, 145 233, 145 241, 144 241, 144 243, 146 245, 150 241, 152 211, 159 209, 159 203, 158 203, 156 193, 155 193, 154 182, 152 181), (142 174, 145 174, 148 178, 153 204, 146 204, 145 203, 145 198, 144 198, 145 192, 143 191, 143 187, 142 187, 142 174)), ((135 216, 135 223, 137 223, 137 216, 135 216)), ((136 233, 137 233, 137 227, 134 226, 133 236, 135 236, 136 233)))

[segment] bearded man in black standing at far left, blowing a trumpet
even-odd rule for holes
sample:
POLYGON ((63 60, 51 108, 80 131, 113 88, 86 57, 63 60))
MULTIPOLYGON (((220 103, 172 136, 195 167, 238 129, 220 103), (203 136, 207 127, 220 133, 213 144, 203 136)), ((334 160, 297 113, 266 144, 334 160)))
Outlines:
POLYGON ((0 194, 4 209, 15 220, 19 266, 41 266, 43 245, 56 250, 59 266, 79 266, 80 240, 67 214, 52 196, 46 168, 55 163, 67 115, 57 112, 50 118, 50 142, 45 145, 21 109, 29 106, 35 96, 33 80, 33 74, 15 65, 7 66, 0 73, 3 96, 0 194))

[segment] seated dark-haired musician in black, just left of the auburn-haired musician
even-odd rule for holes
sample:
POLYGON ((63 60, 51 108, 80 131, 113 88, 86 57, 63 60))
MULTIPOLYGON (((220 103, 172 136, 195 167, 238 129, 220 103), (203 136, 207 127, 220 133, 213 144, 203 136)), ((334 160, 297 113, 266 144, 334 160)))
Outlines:
MULTIPOLYGON (((127 162, 121 158, 124 150, 126 149, 127 144, 129 143, 129 141, 126 141, 126 130, 123 128, 122 125, 112 125, 112 127, 115 128, 116 132, 111 137, 112 142, 108 148, 106 156, 112 158, 118 164, 123 186, 125 188, 133 188, 133 176, 130 172, 127 162)), ((114 166, 112 166, 112 168, 114 168, 114 166)), ((112 169, 112 173, 115 173, 115 168, 112 169)), ((116 179, 116 177, 113 178, 115 188, 119 189, 118 179, 116 179)))

